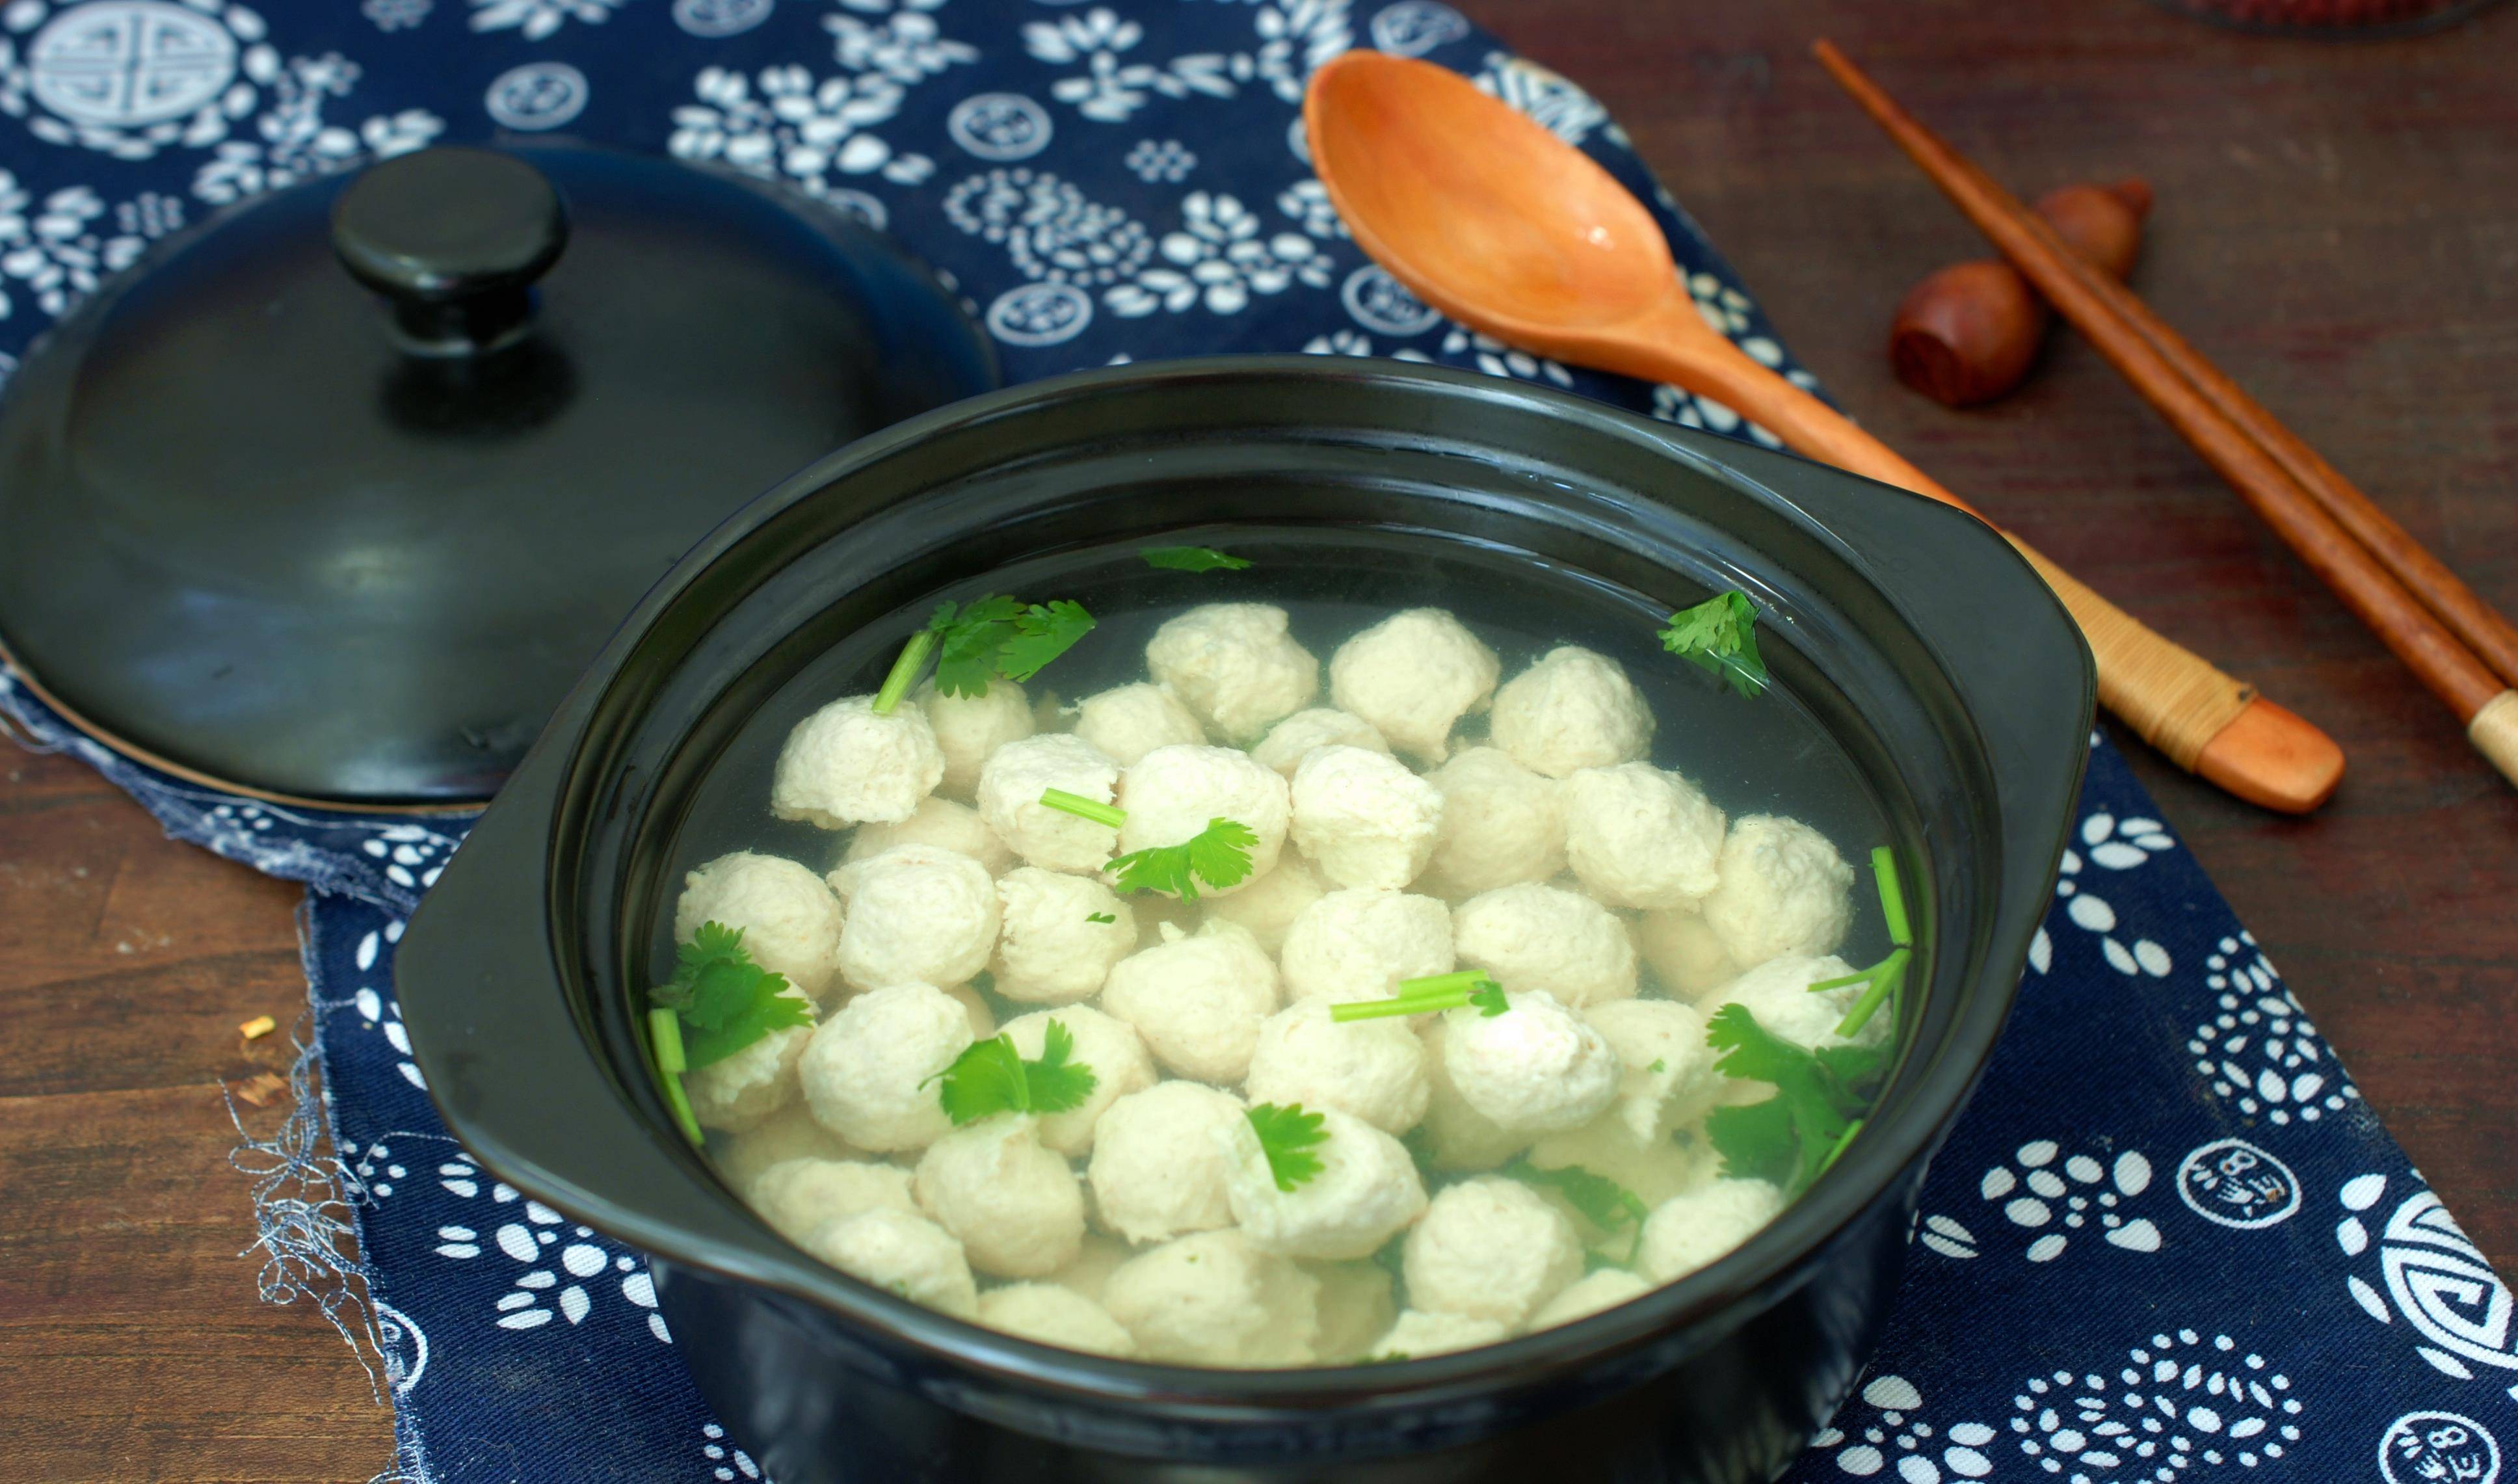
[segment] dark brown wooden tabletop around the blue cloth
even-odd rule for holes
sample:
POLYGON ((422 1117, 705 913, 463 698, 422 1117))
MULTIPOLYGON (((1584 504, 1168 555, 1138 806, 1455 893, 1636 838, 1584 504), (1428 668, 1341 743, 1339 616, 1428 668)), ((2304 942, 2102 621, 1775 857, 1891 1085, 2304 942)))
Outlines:
MULTIPOLYGON (((2483 1250, 2518 1260, 2518 794, 2077 343, 1987 411, 1891 380, 1888 310, 1972 229, 1808 60, 1836 35, 2022 194, 2143 174, 2135 285, 2518 612, 2518 8, 2422 40, 2233 38, 2140 0, 1460 0, 1581 78, 1838 398, 2155 627, 2332 731, 2314 819, 2135 746, 2160 809, 2483 1250)), ((1357 0, 1370 13, 1372 0, 1357 0)), ((368 1479, 390 1418, 257 1300, 222 1081, 282 1061, 297 889, 0 748, 0 1469, 368 1479)), ((249 1111, 249 1124, 277 1121, 249 1111)))

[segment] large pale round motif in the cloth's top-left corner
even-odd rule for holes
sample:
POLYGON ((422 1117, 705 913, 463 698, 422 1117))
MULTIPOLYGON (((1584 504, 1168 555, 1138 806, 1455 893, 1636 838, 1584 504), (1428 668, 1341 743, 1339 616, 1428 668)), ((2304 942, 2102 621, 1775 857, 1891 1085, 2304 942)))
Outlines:
POLYGON ((164 0, 96 0, 38 30, 25 71, 45 111, 71 123, 141 128, 217 103, 237 76, 237 35, 164 0))

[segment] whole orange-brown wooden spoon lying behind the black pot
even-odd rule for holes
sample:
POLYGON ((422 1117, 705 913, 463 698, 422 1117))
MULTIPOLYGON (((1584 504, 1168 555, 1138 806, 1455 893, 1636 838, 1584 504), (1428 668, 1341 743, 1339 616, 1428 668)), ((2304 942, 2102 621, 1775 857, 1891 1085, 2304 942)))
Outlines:
MULTIPOLYGON (((1538 355, 1710 396, 1810 459, 1969 509, 1712 330, 1644 204, 1458 73, 1352 50, 1312 73, 1302 118, 1355 242, 1428 305, 1538 355)), ((2327 733, 2007 539, 2090 640, 2100 703, 2171 761, 2266 809, 2334 794, 2344 756, 2327 733)))

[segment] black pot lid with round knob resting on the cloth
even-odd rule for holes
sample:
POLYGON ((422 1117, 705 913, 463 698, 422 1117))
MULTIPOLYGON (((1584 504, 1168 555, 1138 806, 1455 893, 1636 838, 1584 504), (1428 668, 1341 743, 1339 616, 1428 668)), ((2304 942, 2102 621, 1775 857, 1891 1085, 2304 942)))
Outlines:
POLYGON ((0 645, 252 794, 486 799, 675 557, 997 383, 934 275, 738 176, 431 149, 171 237, 0 398, 0 645))

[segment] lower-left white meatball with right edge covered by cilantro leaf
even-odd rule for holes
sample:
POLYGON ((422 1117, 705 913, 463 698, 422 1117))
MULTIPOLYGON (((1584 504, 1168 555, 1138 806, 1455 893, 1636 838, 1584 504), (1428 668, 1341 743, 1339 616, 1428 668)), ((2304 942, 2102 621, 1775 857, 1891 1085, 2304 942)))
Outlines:
POLYGON ((932 1078, 972 1041, 962 1003, 934 985, 859 995, 813 1030, 803 1099, 859 1149, 924 1149, 952 1129, 932 1078))

